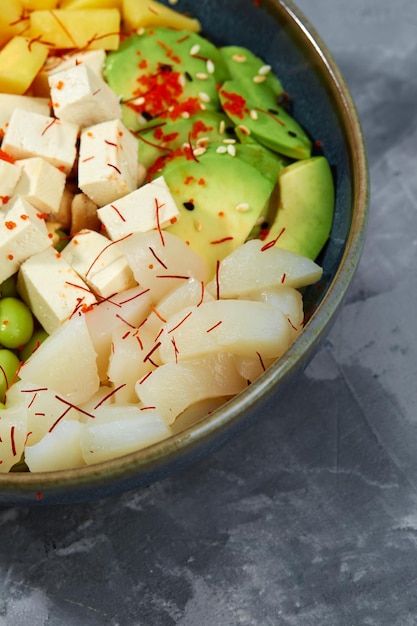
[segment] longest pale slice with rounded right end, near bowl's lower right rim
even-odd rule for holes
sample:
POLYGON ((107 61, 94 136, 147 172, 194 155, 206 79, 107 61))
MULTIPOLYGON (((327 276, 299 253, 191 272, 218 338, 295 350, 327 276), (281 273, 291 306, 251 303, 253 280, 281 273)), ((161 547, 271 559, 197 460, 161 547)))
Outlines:
POLYGON ((288 320, 264 302, 213 300, 188 307, 164 324, 163 363, 218 351, 279 357, 291 340, 288 320))

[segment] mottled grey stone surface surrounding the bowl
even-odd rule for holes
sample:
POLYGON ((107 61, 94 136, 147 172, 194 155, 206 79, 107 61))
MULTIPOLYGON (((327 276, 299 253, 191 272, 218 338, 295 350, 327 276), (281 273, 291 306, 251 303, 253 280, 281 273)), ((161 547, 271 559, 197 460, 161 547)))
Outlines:
POLYGON ((369 152, 369 235, 340 318, 280 407, 191 470, 1 509, 1 626, 417 623, 417 5, 298 6, 369 152))

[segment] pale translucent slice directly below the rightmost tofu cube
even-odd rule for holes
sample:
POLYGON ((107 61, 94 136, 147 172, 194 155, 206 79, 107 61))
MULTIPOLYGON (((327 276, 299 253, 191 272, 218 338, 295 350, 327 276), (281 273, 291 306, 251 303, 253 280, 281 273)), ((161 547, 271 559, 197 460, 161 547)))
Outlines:
POLYGON ((155 303, 188 278, 208 279, 203 258, 172 233, 134 233, 115 245, 125 255, 137 282, 151 290, 155 303))

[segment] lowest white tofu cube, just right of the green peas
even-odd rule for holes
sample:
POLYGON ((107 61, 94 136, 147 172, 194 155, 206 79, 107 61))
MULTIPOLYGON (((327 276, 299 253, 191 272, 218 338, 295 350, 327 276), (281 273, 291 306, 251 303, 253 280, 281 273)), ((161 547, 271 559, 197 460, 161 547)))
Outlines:
POLYGON ((47 333, 96 302, 67 261, 50 246, 20 267, 17 289, 47 333))

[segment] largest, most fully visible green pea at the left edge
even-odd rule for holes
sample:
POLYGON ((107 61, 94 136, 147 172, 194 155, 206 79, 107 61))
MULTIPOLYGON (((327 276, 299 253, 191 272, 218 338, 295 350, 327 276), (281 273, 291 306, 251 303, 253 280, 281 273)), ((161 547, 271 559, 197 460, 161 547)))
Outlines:
POLYGON ((18 298, 0 300, 0 344, 5 348, 24 346, 33 334, 31 310, 18 298))

